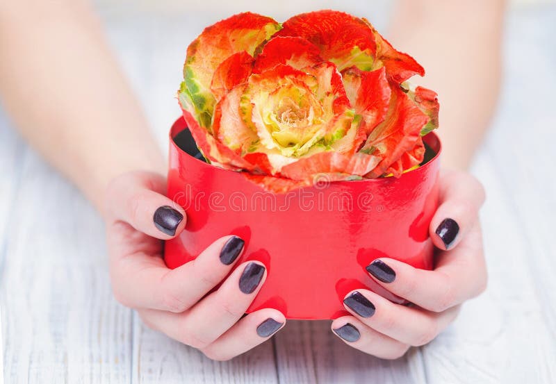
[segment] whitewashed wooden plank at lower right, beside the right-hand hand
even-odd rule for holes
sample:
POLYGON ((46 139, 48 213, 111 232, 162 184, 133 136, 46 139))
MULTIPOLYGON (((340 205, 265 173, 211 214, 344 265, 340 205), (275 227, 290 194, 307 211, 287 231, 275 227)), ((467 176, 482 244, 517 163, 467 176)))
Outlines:
MULTIPOLYGON (((496 167, 483 165, 489 288, 466 303, 452 327, 425 347, 428 383, 553 383, 556 347, 546 302, 528 270, 530 243, 512 213, 496 167)), ((554 288, 554 287, 553 287, 554 288)))

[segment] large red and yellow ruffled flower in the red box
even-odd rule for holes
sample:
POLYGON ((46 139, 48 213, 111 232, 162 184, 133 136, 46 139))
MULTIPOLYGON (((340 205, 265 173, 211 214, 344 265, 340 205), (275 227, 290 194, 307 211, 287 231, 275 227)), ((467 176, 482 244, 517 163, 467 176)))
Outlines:
POLYGON ((406 81, 424 73, 366 19, 321 10, 281 25, 245 12, 190 44, 178 96, 208 161, 286 192, 422 162, 439 104, 406 81))

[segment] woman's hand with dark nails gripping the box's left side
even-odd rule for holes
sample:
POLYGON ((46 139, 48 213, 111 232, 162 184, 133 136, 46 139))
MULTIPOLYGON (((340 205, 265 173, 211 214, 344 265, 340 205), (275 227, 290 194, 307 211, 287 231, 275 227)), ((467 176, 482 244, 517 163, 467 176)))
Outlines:
POLYGON ((226 236, 195 260, 168 269, 162 240, 183 231, 186 215, 164 196, 165 188, 165 179, 149 172, 123 174, 108 186, 106 231, 116 299, 136 308, 150 328, 214 360, 256 347, 286 322, 270 308, 243 317, 265 281, 265 266, 244 262, 234 267, 244 242, 226 236))

